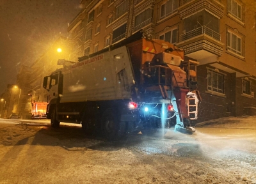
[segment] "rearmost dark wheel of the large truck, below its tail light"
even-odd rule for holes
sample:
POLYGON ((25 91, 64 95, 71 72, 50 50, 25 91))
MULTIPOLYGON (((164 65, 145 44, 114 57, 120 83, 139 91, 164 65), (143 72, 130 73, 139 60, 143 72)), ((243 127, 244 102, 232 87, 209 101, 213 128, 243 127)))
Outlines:
POLYGON ((116 115, 113 113, 112 109, 107 109, 103 114, 102 114, 102 119, 101 119, 101 130, 102 134, 109 140, 113 141, 118 139, 118 120, 116 115))

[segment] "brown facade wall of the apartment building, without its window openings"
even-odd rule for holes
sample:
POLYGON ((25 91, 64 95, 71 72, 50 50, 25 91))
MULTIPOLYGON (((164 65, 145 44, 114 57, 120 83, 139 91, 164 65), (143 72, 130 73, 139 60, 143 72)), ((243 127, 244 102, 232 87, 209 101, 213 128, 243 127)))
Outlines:
MULTIPOLYGON (((198 90, 202 95, 203 101, 199 106, 198 122, 209 119, 221 118, 225 116, 241 116, 243 114, 255 113, 256 98, 253 95, 255 92, 255 61, 256 61, 256 28, 255 28, 255 2, 254 1, 236 1, 241 6, 241 20, 237 19, 230 13, 228 2, 230 0, 180 0, 179 8, 173 9, 168 15, 161 17, 161 11, 164 3, 170 3, 166 0, 130 0, 127 5, 127 13, 116 19, 116 8, 124 1, 116 0, 109 4, 111 0, 98 1, 81 1, 84 9, 75 17, 68 32, 72 38, 83 38, 83 44, 77 47, 79 53, 90 47, 90 54, 95 52, 95 45, 98 44, 98 50, 103 49, 106 45, 106 36, 110 36, 113 43, 114 31, 127 22, 126 34, 127 38, 130 34, 135 33, 136 16, 141 12, 152 8, 152 20, 142 22, 140 27, 148 34, 149 38, 166 38, 165 33, 177 29, 177 33, 172 33, 175 36, 170 40, 173 44, 184 49, 185 55, 198 61, 200 65, 197 70, 198 90), (102 6, 102 13, 97 14, 99 7, 102 6), (213 36, 214 31, 209 30, 211 34, 196 33, 193 30, 190 33, 198 35, 193 38, 182 40, 182 36, 188 36, 185 31, 186 20, 196 13, 207 10, 209 15, 213 15, 216 24, 218 24, 217 37, 213 36), (95 11, 93 21, 88 22, 88 15, 95 11), (113 13, 113 22, 107 24, 108 16, 113 13), (82 23, 84 22, 84 24, 82 23), (95 33, 97 25, 100 23, 99 33, 95 33), (145 24, 144 24, 145 23, 145 24), (147 24, 146 24, 147 23, 147 24), (79 25, 84 26, 82 31, 75 31, 79 25), (92 37, 86 40, 86 33, 92 29, 92 37), (235 34, 241 38, 241 54, 230 52, 228 47, 228 35, 235 34), (173 42, 173 39, 175 42, 173 42), (207 68, 223 73, 225 75, 224 92, 215 93, 207 89, 207 68), (246 78, 247 77, 247 78, 246 78), (244 95, 243 80, 250 81, 250 94, 244 95), (246 107, 246 108, 244 108, 246 107)), ((112 1, 111 1, 112 2, 112 1)), ((178 2, 178 1, 173 1, 178 2)), ((207 21, 207 20, 205 20, 207 21)), ((206 22, 205 27, 211 24, 211 21, 206 22)), ((204 27, 202 26, 202 27, 204 27)), ((212 26, 212 25, 211 25, 212 26)), ((216 26, 216 25, 215 25, 216 26)), ((195 30, 200 28, 200 24, 196 23, 195 30)), ((207 29, 208 30, 208 29, 207 29)), ((233 38, 232 38, 233 39, 233 38)), ((120 41, 120 40, 119 40, 120 41)), ((231 42, 231 41, 230 41, 231 42)), ((239 42, 239 41, 237 41, 239 42)), ((236 43, 238 44, 238 43, 236 43)), ((82 54, 81 54, 82 56, 82 54)))

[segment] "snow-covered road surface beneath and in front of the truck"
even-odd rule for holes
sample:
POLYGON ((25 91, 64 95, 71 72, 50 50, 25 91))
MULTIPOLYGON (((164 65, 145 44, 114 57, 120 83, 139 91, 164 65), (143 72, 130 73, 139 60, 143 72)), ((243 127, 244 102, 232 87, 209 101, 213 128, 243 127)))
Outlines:
POLYGON ((256 183, 256 117, 202 124, 107 142, 80 125, 0 119, 0 183, 256 183))

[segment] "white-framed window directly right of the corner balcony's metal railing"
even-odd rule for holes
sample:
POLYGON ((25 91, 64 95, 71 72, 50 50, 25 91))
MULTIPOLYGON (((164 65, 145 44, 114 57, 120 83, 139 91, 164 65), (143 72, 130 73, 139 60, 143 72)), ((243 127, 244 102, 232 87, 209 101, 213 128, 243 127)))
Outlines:
POLYGON ((236 54, 242 55, 242 39, 234 33, 227 33, 227 49, 236 54))

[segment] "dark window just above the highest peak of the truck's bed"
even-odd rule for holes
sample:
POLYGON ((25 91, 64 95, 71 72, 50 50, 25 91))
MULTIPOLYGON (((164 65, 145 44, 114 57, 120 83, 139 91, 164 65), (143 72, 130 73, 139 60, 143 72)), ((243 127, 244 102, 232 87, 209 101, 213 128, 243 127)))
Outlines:
POLYGON ((147 26, 152 22, 152 9, 148 8, 147 10, 141 12, 135 17, 134 31, 141 29, 142 27, 147 26))

